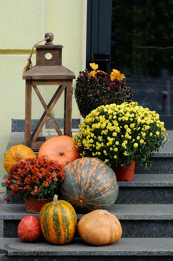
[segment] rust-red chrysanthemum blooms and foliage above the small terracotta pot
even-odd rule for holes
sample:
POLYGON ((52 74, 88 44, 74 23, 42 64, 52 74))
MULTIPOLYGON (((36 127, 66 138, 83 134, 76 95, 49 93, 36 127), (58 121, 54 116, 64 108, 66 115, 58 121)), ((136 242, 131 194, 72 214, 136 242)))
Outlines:
MULTIPOLYGON (((64 172, 58 161, 44 156, 39 159, 30 158, 13 164, 6 184, 11 189, 10 196, 20 199, 44 199, 57 194, 58 185, 64 180, 64 172)), ((4 200, 10 202, 10 196, 4 200)))

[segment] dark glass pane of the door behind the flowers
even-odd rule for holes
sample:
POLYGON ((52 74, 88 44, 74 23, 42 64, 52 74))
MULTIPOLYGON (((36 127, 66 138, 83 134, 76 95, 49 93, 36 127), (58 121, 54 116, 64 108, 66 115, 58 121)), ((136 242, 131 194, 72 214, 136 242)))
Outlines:
POLYGON ((125 75, 133 101, 172 115, 173 1, 112 1, 111 69, 125 75))

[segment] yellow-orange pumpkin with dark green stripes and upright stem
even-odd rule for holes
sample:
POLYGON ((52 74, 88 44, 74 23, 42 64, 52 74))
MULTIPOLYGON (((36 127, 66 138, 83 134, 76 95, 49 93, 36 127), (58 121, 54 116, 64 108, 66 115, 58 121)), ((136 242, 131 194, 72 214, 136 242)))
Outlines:
POLYGON ((77 228, 76 212, 72 205, 65 200, 47 203, 39 213, 42 234, 49 243, 64 245, 72 241, 77 228))

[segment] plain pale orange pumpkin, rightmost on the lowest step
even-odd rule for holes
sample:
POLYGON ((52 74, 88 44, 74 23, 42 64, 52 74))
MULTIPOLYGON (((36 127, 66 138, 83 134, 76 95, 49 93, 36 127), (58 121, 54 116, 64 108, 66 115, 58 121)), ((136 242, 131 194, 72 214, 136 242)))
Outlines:
POLYGON ((102 209, 84 215, 78 222, 77 231, 86 243, 95 246, 112 244, 122 235, 118 218, 102 209))

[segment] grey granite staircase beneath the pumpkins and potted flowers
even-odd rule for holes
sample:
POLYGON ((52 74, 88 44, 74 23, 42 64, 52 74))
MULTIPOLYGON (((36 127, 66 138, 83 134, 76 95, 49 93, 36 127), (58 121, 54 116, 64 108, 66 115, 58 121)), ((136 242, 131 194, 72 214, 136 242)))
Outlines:
MULTIPOLYGON (((26 243, 17 236, 21 218, 29 215, 24 202, 3 203, 0 219, 4 220, 0 238, 1 260, 173 260, 173 132, 169 142, 153 156, 153 166, 144 169, 136 164, 132 181, 118 182, 119 194, 107 209, 122 226, 122 237, 114 244, 91 246, 76 233, 68 245, 49 244, 43 237, 26 243)), ((16 141, 16 140, 15 140, 16 141)), ((10 143, 12 145, 12 143, 10 143)), ((6 187, 4 175, 2 186, 6 187)), ((9 188, 7 187, 7 192, 9 188)), ((39 217, 39 214, 32 214, 39 217)), ((79 220, 83 214, 77 214, 79 220)))

